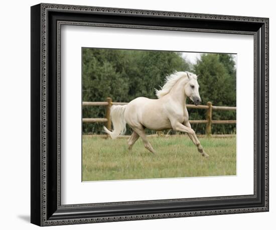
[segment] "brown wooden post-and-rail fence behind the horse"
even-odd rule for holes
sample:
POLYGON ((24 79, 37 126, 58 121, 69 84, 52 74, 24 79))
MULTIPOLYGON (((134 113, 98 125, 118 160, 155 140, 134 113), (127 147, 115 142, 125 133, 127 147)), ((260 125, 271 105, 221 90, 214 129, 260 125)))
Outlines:
MULTIPOLYGON (((82 122, 85 123, 105 123, 107 129, 111 129, 110 108, 112 105, 124 105, 127 102, 112 102, 112 98, 107 97, 106 101, 83 101, 82 106, 105 106, 105 118, 83 118, 82 122)), ((212 120, 213 110, 236 110, 236 107, 229 106, 215 106, 212 102, 208 102, 207 105, 194 105, 186 104, 187 108, 206 109, 206 120, 191 120, 191 124, 206 124, 206 135, 212 134, 213 124, 236 124, 236 120, 212 120)))

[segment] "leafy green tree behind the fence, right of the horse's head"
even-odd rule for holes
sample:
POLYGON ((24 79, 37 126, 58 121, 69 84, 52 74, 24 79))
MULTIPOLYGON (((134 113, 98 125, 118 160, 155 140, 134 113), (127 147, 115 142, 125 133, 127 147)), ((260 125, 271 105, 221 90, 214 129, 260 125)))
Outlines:
MULTIPOLYGON (((202 103, 211 101, 215 105, 236 106, 236 70, 233 56, 229 54, 202 54, 193 66, 200 85, 202 103)), ((204 119, 204 111, 194 116, 204 119)), ((234 111, 214 111, 213 120, 235 120, 234 111)), ((201 132, 204 132, 202 127, 201 132)), ((214 133, 234 133, 235 125, 215 125, 214 133)))

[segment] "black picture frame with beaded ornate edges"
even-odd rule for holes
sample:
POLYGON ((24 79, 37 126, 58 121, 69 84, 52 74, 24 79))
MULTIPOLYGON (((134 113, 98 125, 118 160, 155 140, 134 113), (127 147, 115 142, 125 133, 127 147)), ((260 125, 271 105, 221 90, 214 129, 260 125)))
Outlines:
POLYGON ((31 222, 40 226, 268 211, 267 18, 39 4, 31 7, 31 222), (60 203, 60 26, 254 36, 254 194, 60 203))

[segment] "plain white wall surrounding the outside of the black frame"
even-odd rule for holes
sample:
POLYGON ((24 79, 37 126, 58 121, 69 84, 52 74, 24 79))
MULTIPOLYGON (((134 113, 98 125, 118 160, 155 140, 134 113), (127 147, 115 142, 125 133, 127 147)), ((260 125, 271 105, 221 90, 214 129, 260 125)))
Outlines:
MULTIPOLYGON (((0 66, 0 216, 3 229, 35 229, 30 220, 30 6, 39 1, 5 1, 1 4, 0 66)), ((134 8, 161 11, 240 15, 270 18, 270 211, 218 216, 172 218, 55 226, 54 229, 273 229, 276 215, 275 176, 276 15, 273 1, 72 1, 49 3, 134 8), (269 227, 270 226, 270 227, 269 227)))

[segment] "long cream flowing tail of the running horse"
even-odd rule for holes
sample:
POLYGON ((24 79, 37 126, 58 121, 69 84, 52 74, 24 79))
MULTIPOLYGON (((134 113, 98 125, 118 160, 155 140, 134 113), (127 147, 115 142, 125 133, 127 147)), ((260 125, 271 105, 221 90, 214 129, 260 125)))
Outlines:
POLYGON ((126 122, 124 120, 124 110, 126 105, 112 105, 110 111, 110 117, 113 124, 113 131, 109 131, 106 127, 103 127, 104 132, 107 133, 112 139, 116 139, 120 135, 125 133, 126 122))

